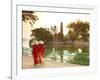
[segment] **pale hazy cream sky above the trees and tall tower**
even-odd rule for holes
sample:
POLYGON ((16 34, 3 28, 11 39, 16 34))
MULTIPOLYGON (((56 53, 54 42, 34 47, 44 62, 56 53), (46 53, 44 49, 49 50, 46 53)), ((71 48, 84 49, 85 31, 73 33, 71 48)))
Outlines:
POLYGON ((39 28, 39 27, 50 28, 51 26, 56 25, 57 30, 59 32, 60 23, 63 22, 64 34, 67 34, 68 32, 67 25, 70 22, 76 21, 77 19, 90 22, 90 17, 89 15, 86 14, 68 14, 68 13, 51 13, 51 12, 36 12, 35 14, 38 16, 39 20, 35 22, 33 28, 39 28))

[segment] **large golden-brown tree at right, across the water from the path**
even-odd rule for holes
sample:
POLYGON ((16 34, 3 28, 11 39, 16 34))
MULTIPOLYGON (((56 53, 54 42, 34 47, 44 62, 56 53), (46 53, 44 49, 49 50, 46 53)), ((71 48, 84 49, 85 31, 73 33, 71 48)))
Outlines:
POLYGON ((89 22, 83 22, 77 20, 67 25, 69 28, 68 36, 69 39, 73 40, 89 40, 89 22))

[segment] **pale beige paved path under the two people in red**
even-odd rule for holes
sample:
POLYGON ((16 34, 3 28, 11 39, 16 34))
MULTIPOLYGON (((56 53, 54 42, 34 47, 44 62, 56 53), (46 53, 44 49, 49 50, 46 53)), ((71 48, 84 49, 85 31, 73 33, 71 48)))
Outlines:
POLYGON ((61 63, 60 61, 54 60, 45 60, 44 64, 39 64, 34 66, 32 56, 23 56, 23 69, 29 68, 57 68, 57 67, 80 67, 82 65, 70 64, 70 63, 61 63))

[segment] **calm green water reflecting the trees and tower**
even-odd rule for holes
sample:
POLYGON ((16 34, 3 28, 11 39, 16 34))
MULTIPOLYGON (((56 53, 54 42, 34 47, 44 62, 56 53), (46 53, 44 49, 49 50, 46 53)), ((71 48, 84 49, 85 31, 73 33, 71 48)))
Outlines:
MULTIPOLYGON (((31 49, 23 48, 23 53, 31 55, 31 49)), ((62 63, 89 65, 89 48, 75 45, 45 46, 45 59, 62 63)))

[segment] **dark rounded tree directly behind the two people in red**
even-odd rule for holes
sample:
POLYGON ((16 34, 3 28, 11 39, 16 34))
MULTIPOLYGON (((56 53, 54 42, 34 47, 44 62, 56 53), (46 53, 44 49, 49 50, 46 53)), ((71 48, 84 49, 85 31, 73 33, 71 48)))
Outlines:
POLYGON ((32 30, 32 34, 35 35, 37 40, 43 40, 45 43, 51 42, 53 39, 53 35, 44 28, 37 28, 32 30))

